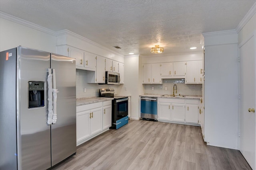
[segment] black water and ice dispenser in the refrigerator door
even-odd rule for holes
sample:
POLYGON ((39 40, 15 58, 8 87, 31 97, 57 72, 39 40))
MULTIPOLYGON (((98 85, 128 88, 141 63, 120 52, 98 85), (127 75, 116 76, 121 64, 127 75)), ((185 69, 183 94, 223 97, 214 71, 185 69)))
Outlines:
POLYGON ((28 108, 44 106, 44 82, 28 82, 28 108))

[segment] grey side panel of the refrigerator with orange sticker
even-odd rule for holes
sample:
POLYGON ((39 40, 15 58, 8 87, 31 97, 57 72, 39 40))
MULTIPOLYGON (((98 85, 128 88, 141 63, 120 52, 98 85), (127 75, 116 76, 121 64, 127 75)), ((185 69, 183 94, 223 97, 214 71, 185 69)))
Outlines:
POLYGON ((0 53, 0 169, 17 169, 16 48, 0 53))

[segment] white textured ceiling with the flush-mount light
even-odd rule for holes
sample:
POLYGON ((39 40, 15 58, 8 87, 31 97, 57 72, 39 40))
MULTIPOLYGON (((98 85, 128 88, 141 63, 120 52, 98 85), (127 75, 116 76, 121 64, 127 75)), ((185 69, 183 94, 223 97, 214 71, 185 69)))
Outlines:
POLYGON ((68 29, 123 55, 202 49, 202 33, 236 29, 256 0, 0 0, 0 11, 68 29), (122 49, 115 49, 119 46, 122 49))

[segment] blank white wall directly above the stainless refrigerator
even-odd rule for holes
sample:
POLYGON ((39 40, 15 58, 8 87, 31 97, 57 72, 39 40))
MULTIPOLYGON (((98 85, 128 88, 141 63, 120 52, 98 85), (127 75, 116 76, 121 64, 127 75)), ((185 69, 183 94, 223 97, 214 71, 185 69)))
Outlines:
POLYGON ((56 53, 56 37, 52 34, 0 18, 0 51, 23 46, 56 53))

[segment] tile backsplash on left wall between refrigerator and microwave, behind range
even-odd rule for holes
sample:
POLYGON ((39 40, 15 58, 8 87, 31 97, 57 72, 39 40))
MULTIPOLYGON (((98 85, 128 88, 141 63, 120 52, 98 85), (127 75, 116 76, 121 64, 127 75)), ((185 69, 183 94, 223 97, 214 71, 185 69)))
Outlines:
POLYGON ((116 88, 117 85, 95 84, 86 82, 86 70, 76 69, 76 98, 99 96, 100 88, 116 88), (86 92, 84 92, 86 88, 86 92))

